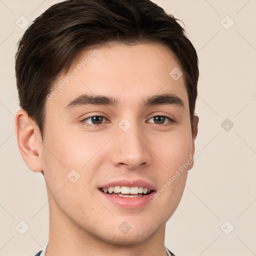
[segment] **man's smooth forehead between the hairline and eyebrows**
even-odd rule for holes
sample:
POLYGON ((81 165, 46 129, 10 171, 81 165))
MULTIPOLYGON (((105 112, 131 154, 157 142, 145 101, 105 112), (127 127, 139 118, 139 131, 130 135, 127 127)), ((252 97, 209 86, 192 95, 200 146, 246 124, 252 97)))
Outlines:
POLYGON ((117 98, 119 105, 141 103, 159 93, 183 97, 187 104, 184 75, 175 54, 158 42, 126 45, 112 43, 81 50, 65 75, 52 86, 50 104, 64 108, 70 100, 88 93, 117 98), (60 89, 58 88, 60 87, 60 89), (57 90, 56 90, 57 89, 57 90), (121 98, 120 98, 121 97, 121 98))

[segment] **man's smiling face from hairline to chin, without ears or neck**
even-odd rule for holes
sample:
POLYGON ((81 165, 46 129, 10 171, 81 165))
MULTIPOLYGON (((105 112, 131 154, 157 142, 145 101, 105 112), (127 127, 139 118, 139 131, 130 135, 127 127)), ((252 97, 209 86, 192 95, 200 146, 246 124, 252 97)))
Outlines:
POLYGON ((81 51, 58 77, 38 152, 50 214, 112 244, 142 242, 164 227, 194 154, 184 75, 174 79, 173 68, 181 70, 160 43, 112 44, 81 51), (116 194, 101 191, 111 187, 116 194))

